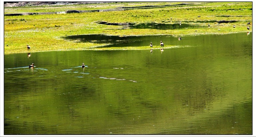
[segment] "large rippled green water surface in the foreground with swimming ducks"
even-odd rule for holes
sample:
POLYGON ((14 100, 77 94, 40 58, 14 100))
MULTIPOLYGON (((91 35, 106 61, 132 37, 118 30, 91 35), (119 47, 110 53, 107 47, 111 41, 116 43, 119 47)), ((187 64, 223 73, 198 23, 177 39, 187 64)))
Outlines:
POLYGON ((252 134, 252 33, 145 39, 5 55, 4 134, 252 134))

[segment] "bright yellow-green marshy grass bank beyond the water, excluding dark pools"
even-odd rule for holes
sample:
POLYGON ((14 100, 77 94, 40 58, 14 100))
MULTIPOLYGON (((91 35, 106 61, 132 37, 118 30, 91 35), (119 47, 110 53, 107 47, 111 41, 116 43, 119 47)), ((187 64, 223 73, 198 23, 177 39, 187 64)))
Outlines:
MULTIPOLYGON (((133 47, 105 47, 109 43, 76 42, 63 36, 82 34, 107 35, 202 35, 252 31, 252 2, 113 2, 85 5, 29 6, 4 8, 4 14, 63 12, 67 10, 104 10, 123 7, 122 11, 67 14, 4 16, 4 54, 62 50, 141 50, 149 43, 133 47), (199 25, 199 28, 173 30, 122 29, 108 23, 162 23, 199 25), (210 22, 211 21, 211 22, 210 22), (218 21, 229 21, 218 23, 218 21), (250 25, 247 25, 251 22, 250 25), (210 27, 208 27, 208 24, 210 27), (233 25, 236 28, 233 28, 233 25), (247 30, 246 27, 250 27, 247 30), (8 45, 8 46, 7 46, 8 45)), ((148 40, 150 42, 150 39, 148 40)), ((175 45, 165 44, 165 48, 175 45)))

